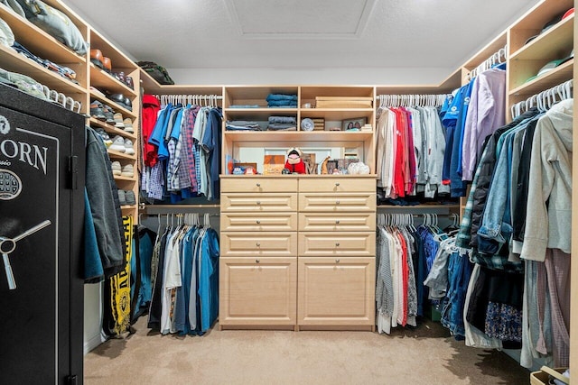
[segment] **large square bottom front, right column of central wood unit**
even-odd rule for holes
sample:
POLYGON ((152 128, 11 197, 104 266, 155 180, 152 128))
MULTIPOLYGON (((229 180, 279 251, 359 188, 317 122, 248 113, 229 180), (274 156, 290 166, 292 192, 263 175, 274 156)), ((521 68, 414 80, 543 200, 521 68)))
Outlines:
POLYGON ((372 325, 375 258, 299 258, 299 325, 372 325))

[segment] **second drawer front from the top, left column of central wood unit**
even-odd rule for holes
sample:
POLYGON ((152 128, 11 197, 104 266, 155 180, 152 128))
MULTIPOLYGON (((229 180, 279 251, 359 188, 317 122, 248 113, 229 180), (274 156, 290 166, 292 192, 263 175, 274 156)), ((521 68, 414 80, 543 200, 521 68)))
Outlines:
POLYGON ((296 193, 275 193, 275 194, 221 194, 220 211, 250 211, 252 213, 267 211, 296 211, 296 193))

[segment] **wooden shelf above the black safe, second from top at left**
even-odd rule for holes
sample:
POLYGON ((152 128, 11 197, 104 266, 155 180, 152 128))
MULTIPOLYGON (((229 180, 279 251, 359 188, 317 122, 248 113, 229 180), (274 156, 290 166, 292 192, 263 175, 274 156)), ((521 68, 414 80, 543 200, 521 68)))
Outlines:
POLYGON ((0 54, 0 63, 3 69, 27 75, 46 87, 66 94, 66 96, 71 96, 82 102, 83 105, 86 103, 84 100, 86 88, 72 83, 68 78, 62 78, 50 69, 45 69, 40 64, 25 58, 5 45, 0 44, 0 54))

